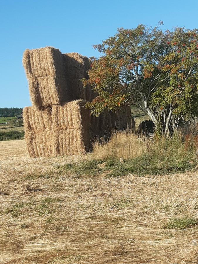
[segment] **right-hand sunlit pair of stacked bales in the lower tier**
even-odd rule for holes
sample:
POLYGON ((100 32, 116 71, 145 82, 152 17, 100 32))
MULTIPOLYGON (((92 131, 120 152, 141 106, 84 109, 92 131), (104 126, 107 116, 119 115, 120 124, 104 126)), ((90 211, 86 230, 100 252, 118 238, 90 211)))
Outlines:
POLYGON ((52 107, 54 155, 84 154, 91 147, 90 111, 82 100, 52 107))

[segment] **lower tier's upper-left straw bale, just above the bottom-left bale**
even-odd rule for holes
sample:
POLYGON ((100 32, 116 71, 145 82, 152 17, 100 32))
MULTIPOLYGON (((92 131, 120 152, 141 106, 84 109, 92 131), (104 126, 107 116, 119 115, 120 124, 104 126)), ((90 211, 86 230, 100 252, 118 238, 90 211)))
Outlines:
POLYGON ((50 108, 38 110, 32 106, 23 108, 23 123, 26 132, 52 130, 52 114, 50 108))

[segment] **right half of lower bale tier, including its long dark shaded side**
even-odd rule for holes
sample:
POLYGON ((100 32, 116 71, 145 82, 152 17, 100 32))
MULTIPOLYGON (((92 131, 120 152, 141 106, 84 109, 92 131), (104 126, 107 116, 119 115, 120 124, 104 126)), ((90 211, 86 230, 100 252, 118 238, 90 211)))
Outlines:
POLYGON ((125 107, 116 113, 90 116, 85 102, 75 100, 64 106, 52 107, 52 124, 53 155, 84 154, 92 149, 94 139, 129 128, 131 115, 125 107))

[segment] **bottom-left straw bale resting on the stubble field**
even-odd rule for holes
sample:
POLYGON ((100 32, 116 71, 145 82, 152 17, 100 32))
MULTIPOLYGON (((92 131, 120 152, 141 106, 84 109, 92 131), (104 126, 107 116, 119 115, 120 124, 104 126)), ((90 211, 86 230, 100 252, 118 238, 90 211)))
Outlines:
POLYGON ((25 133, 26 150, 29 157, 48 157, 52 156, 52 139, 51 133, 47 130, 39 132, 29 132, 25 133))

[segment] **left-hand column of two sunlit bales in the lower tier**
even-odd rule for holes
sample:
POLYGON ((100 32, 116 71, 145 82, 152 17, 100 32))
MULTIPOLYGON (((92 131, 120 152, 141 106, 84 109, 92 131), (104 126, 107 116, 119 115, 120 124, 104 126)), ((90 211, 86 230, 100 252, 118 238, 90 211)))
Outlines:
POLYGON ((30 157, 52 155, 51 109, 38 110, 34 107, 23 109, 26 150, 30 157))

